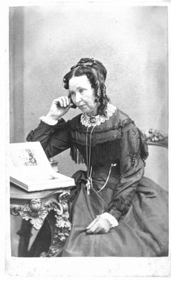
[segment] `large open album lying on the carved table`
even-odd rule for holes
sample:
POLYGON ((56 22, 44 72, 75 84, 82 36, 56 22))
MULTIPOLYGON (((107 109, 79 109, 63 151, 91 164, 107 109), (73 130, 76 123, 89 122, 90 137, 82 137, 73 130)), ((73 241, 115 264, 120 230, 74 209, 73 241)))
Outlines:
POLYGON ((74 178, 54 171, 39 141, 10 143, 10 181, 27 191, 75 185, 74 178))

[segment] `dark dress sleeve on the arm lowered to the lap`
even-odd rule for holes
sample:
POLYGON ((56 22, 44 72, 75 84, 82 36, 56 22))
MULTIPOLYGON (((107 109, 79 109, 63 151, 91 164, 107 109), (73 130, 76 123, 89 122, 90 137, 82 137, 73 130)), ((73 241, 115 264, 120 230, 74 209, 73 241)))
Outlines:
POLYGON ((120 171, 120 180, 108 209, 117 220, 128 212, 137 184, 144 175, 142 136, 135 124, 122 129, 120 171))

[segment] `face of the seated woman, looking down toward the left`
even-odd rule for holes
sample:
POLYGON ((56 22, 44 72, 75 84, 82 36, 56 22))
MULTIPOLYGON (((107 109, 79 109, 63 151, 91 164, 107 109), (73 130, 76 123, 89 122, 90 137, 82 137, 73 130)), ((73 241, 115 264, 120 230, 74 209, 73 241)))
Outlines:
POLYGON ((73 103, 90 116, 97 115, 98 103, 95 102, 95 89, 86 75, 72 77, 69 80, 69 93, 73 103))

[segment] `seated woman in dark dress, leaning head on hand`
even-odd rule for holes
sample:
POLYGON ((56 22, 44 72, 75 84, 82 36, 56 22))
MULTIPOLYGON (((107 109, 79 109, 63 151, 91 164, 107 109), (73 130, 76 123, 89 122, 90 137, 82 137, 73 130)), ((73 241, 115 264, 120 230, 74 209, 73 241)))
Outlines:
POLYGON ((56 256, 167 256, 167 192, 143 177, 144 135, 109 102, 106 77, 99 60, 79 60, 63 79, 68 96, 53 100, 27 137, 47 157, 70 148, 74 162, 87 166, 74 174, 72 229, 56 256), (81 114, 65 122, 72 106, 81 114))

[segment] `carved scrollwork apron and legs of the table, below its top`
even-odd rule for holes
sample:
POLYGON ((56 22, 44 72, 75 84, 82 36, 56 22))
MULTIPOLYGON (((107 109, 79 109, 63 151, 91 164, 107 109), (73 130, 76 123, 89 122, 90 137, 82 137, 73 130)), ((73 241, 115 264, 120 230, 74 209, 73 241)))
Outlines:
POLYGON ((69 190, 62 190, 60 195, 55 195, 57 199, 56 197, 43 201, 32 199, 29 204, 11 204, 11 214, 14 216, 20 215, 23 219, 22 228, 18 232, 18 235, 20 235, 18 254, 20 256, 28 254, 27 249, 32 227, 39 230, 46 217, 51 230, 51 246, 48 253, 43 252, 41 256, 54 256, 61 249, 71 230, 66 198, 69 194, 69 190))

